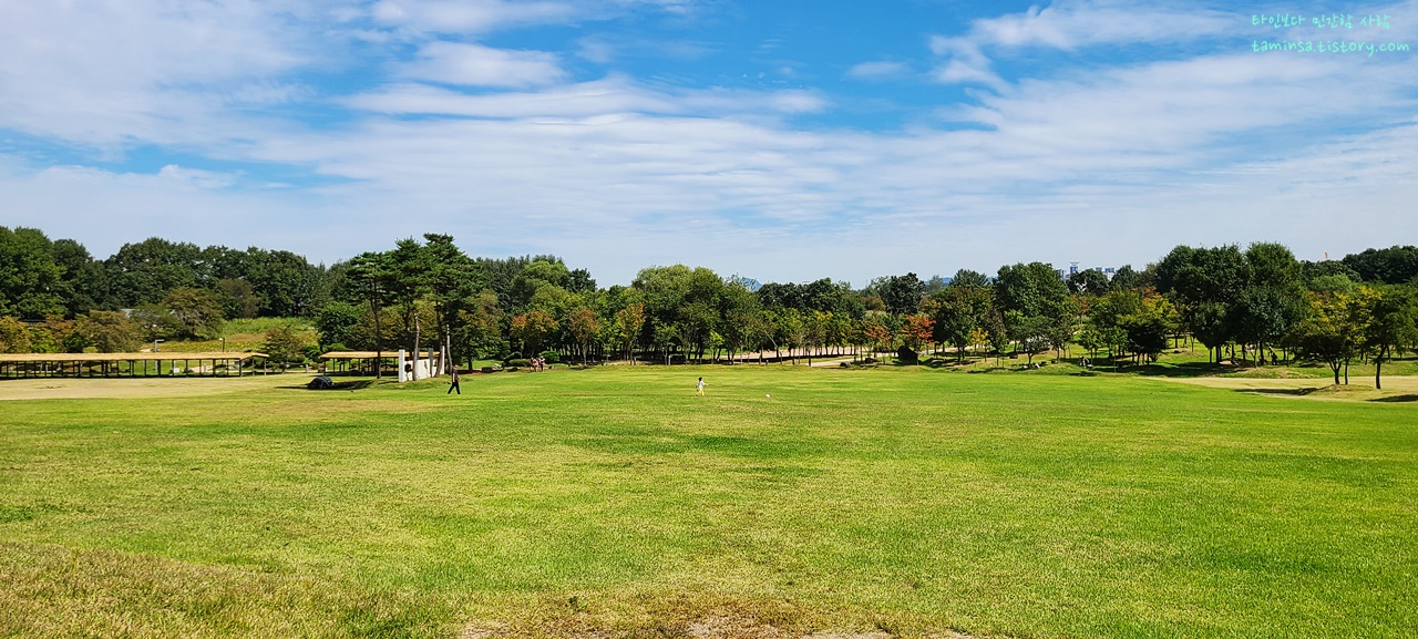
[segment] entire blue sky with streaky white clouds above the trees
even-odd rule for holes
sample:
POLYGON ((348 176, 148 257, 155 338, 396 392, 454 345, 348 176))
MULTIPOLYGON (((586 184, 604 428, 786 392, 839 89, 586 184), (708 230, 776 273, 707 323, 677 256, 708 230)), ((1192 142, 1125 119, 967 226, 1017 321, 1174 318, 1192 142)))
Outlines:
POLYGON ((1418 0, 0 14, 0 225, 99 258, 160 235, 332 262, 448 232, 601 285, 675 262, 864 285, 1418 242, 1418 0), (1313 21, 1337 13, 1350 27, 1313 21))

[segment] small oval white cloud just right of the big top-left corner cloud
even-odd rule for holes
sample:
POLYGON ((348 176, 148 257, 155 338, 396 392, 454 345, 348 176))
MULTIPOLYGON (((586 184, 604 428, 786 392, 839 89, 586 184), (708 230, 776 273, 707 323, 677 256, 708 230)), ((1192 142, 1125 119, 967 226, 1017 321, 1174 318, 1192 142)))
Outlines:
POLYGON ((413 79, 467 86, 540 86, 566 78, 557 57, 543 51, 508 51, 479 44, 435 41, 403 67, 413 79))

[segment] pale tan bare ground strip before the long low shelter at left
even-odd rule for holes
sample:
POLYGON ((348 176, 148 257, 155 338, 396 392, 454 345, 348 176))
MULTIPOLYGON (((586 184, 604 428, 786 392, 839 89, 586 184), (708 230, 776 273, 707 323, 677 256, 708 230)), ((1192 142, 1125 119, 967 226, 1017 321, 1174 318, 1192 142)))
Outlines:
POLYGON ((315 377, 315 373, 291 371, 242 377, 44 377, 0 380, 0 401, 221 395, 258 388, 303 385, 312 377, 315 377))

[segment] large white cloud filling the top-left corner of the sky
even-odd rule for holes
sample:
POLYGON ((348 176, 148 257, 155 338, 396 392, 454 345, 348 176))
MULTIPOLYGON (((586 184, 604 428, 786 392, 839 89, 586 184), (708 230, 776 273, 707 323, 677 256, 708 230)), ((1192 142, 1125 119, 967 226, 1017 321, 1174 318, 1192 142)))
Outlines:
POLYGON ((309 11, 303 1, 10 3, 0 128, 92 146, 241 136, 251 118, 225 108, 294 91, 271 78, 311 60, 309 11))

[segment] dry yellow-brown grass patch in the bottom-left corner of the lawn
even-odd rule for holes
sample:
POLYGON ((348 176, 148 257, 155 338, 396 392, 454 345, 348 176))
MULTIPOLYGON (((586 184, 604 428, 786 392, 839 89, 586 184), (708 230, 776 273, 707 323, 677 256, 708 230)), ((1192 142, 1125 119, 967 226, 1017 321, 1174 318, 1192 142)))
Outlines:
POLYGON ((430 601, 311 575, 0 543, 0 636, 451 635, 430 601))

